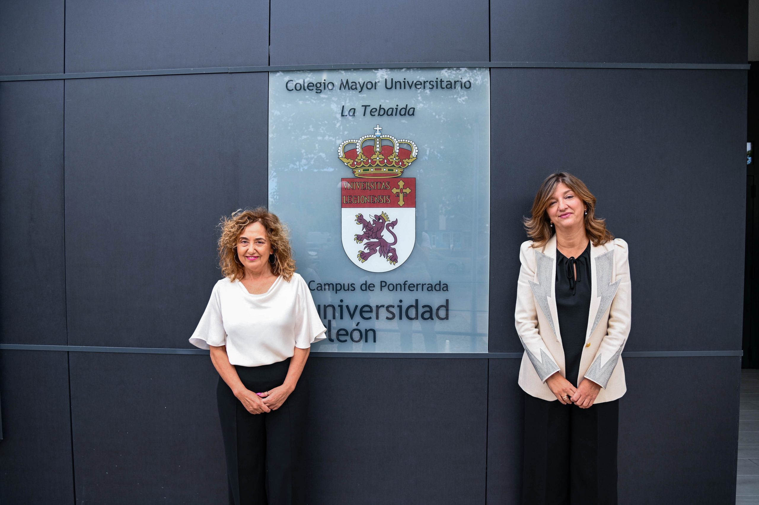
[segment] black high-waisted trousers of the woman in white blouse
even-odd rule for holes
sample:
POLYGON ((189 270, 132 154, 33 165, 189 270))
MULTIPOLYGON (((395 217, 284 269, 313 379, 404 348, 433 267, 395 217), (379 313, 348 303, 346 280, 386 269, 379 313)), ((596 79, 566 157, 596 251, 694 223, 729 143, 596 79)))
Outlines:
MULTIPOLYGON (((261 393, 282 386, 289 365, 288 358, 272 365, 235 368, 247 389, 261 393)), ((301 378, 279 409, 254 415, 219 377, 216 401, 222 421, 230 505, 306 503, 301 448, 307 400, 307 384, 301 378)))

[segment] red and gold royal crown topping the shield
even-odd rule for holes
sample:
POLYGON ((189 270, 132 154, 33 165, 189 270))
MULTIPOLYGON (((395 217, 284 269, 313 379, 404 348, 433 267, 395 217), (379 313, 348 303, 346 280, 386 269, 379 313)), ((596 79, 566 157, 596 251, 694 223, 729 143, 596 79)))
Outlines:
POLYGON ((376 125, 374 134, 340 144, 338 156, 356 177, 400 177, 417 159, 417 144, 381 132, 382 127, 376 125))

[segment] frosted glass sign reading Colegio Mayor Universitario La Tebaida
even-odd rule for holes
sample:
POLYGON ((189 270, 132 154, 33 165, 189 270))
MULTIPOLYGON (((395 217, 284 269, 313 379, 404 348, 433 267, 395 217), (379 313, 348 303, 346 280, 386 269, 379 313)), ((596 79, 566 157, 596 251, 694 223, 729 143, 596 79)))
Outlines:
POLYGON ((487 352, 487 68, 269 73, 269 209, 314 352, 487 352))

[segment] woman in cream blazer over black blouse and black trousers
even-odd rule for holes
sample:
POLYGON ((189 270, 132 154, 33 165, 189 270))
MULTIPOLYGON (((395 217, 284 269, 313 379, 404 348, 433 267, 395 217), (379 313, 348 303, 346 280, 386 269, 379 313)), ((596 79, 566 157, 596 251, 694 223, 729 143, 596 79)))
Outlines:
POLYGON ((628 247, 574 175, 543 181, 524 221, 516 329, 524 346, 524 505, 616 505, 628 247))

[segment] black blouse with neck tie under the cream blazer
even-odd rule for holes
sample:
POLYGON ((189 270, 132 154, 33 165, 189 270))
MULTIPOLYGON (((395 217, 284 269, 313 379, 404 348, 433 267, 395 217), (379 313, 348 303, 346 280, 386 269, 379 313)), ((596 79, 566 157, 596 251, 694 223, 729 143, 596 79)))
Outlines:
POLYGON ((585 345, 587 314, 591 310, 591 286, 591 243, 587 243, 587 248, 577 258, 566 257, 557 248, 556 311, 564 347, 566 378, 575 387, 585 345))

